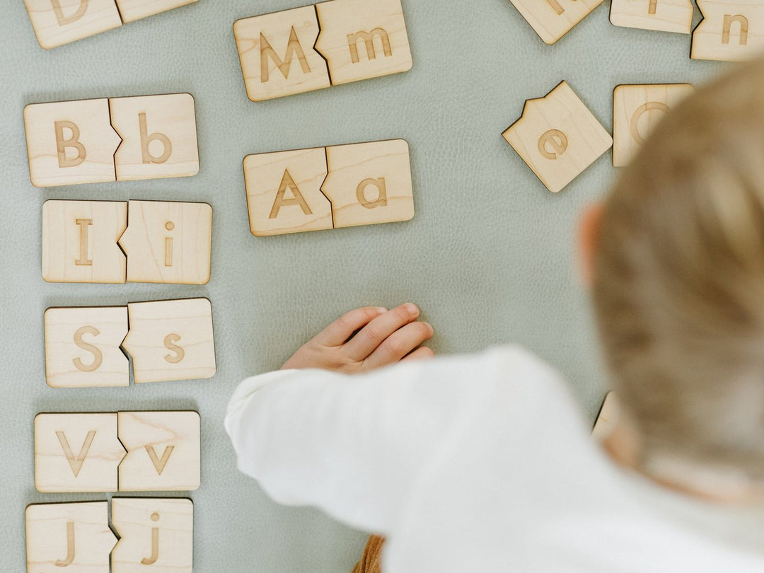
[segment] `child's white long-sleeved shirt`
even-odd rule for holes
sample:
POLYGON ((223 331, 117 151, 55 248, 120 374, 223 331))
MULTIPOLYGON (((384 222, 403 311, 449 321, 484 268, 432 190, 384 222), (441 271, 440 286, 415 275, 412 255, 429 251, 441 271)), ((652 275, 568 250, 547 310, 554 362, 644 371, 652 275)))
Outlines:
POLYGON ((279 503, 387 536, 386 573, 762 573, 764 516, 613 465, 527 351, 244 380, 238 467, 279 503))

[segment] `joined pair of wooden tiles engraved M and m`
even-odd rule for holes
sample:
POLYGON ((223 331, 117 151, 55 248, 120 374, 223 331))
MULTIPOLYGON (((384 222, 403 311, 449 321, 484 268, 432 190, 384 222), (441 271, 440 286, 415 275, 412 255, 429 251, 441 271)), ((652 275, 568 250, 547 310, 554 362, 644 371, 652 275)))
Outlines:
POLYGON ((413 64, 400 0, 330 0, 234 24, 253 102, 406 72, 413 64))

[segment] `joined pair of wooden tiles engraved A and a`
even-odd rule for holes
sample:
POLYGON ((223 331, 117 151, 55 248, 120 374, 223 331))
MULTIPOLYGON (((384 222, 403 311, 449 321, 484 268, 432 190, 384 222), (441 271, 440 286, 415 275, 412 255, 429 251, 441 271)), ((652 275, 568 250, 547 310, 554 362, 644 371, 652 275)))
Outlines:
POLYGON ((244 157, 252 235, 408 221, 409 145, 402 139, 244 157))

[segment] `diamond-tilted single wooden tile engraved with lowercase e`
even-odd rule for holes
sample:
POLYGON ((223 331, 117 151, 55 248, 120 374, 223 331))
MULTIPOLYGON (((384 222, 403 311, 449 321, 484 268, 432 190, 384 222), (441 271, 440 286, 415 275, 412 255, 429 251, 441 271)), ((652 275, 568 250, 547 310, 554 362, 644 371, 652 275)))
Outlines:
POLYGON ((529 99, 503 137, 552 193, 613 145, 610 134, 565 82, 541 99, 529 99))

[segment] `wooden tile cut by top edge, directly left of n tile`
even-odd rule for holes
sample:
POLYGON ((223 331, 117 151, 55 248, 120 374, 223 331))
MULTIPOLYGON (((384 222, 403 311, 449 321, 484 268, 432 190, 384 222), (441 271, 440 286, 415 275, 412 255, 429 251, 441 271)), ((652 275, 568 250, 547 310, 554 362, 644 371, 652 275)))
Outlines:
POLYGON ((624 28, 690 34, 692 0, 613 0, 610 22, 624 28))

